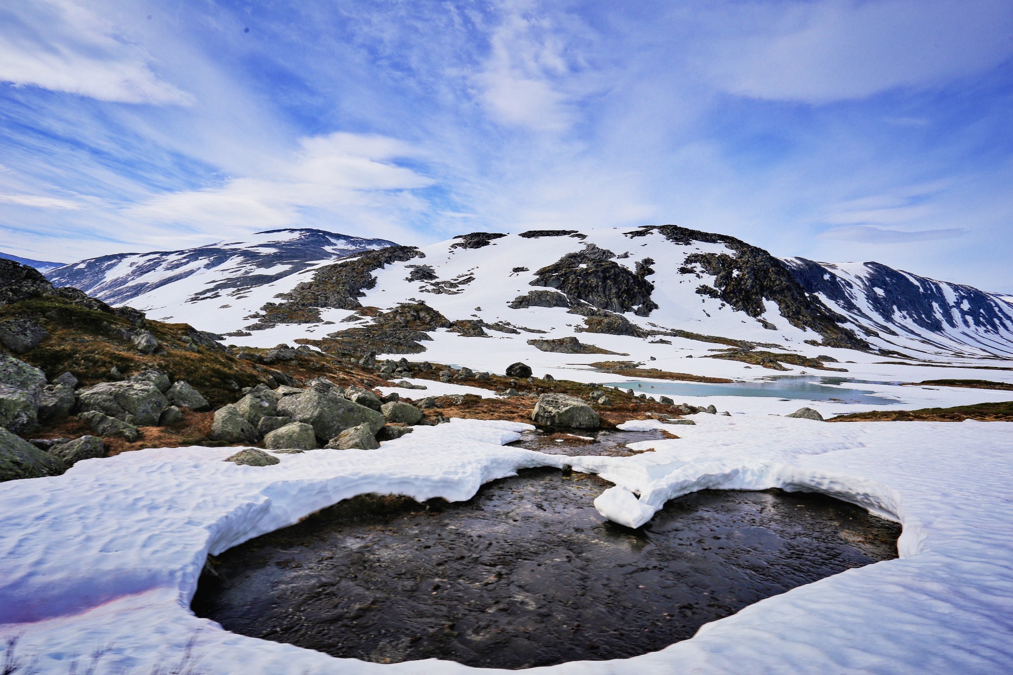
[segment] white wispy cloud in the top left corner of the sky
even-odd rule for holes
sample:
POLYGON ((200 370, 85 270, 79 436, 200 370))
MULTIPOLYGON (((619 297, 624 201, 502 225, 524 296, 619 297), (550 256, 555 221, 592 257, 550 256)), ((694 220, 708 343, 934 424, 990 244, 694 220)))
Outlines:
POLYGON ((8 3, 0 10, 0 81, 122 103, 188 105, 151 58, 71 0, 8 3))

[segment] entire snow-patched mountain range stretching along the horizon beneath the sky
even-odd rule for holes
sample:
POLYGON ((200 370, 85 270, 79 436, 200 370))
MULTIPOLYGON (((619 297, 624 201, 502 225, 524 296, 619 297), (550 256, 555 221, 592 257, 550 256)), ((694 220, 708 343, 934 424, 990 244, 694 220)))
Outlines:
POLYGON ((732 237, 677 226, 472 233, 371 253, 392 246, 276 230, 184 251, 92 258, 47 276, 153 319, 264 344, 329 331, 340 340, 350 334, 321 326, 362 327, 376 312, 357 315, 358 308, 389 312, 421 303, 442 317, 433 326, 461 338, 488 335, 488 328, 525 342, 525 332, 599 333, 800 353, 1013 356, 1013 305, 1003 296, 875 262, 780 259, 732 237))

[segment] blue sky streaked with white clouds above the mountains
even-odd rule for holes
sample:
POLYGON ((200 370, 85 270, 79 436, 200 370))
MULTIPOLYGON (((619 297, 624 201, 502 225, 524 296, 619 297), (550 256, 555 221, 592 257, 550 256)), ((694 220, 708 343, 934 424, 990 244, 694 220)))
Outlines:
POLYGON ((1013 3, 0 6, 0 250, 676 223, 1013 292, 1013 3))

